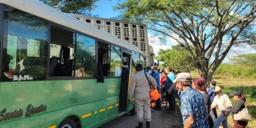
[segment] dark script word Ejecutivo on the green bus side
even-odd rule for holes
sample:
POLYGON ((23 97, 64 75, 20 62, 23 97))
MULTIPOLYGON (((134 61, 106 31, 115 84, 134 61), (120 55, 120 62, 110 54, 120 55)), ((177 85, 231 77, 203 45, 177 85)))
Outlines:
POLYGON ((43 104, 41 104, 39 107, 34 107, 34 106, 32 106, 32 104, 29 104, 27 106, 25 116, 30 117, 31 115, 36 114, 36 113, 41 113, 41 112, 45 111, 46 109, 47 109, 47 106, 43 105, 43 104))

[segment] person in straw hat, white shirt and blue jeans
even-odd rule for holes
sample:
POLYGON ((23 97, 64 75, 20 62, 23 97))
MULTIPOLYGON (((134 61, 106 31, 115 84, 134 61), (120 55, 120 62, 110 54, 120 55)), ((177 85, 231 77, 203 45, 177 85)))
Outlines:
POLYGON ((213 103, 211 104, 211 110, 218 106, 220 110, 220 115, 214 121, 214 128, 218 128, 222 123, 223 128, 228 128, 228 115, 230 115, 230 111, 225 108, 225 106, 232 106, 228 95, 222 93, 223 89, 220 86, 216 86, 213 92, 216 93, 216 96, 213 99, 213 103))

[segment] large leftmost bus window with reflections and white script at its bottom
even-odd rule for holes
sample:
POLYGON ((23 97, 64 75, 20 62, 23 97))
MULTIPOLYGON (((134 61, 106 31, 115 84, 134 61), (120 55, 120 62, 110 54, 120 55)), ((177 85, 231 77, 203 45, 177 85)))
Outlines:
POLYGON ((4 30, 1 81, 45 80, 48 22, 4 6, 4 30))

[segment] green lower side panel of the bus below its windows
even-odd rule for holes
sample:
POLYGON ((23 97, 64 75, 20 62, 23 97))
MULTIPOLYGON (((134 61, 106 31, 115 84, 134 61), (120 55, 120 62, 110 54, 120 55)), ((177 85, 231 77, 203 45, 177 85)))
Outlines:
POLYGON ((71 115, 79 118, 82 128, 98 127, 117 117, 120 84, 121 78, 104 79, 104 83, 97 83, 96 79, 1 82, 0 111, 6 109, 10 113, 21 109, 23 114, 0 122, 0 128, 57 127, 71 115), (34 108, 43 104, 47 109, 25 117, 29 104, 34 108), (82 118, 88 113, 91 115, 82 118))

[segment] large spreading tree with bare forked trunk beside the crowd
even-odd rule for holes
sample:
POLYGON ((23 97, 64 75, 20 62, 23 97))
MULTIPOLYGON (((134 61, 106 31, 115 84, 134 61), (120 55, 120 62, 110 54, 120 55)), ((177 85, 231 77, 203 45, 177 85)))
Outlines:
POLYGON ((255 0, 127 0, 115 9, 184 46, 206 82, 231 47, 256 45, 255 0))

